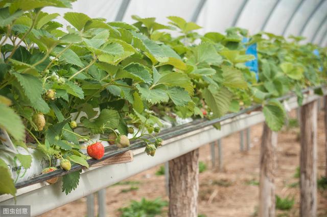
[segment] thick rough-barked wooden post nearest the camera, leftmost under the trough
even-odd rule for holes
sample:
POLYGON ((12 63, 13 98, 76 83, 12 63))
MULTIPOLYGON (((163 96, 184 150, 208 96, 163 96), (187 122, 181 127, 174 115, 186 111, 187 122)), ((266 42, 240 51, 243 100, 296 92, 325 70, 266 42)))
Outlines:
POLYGON ((169 161, 169 216, 197 217, 199 149, 169 161))

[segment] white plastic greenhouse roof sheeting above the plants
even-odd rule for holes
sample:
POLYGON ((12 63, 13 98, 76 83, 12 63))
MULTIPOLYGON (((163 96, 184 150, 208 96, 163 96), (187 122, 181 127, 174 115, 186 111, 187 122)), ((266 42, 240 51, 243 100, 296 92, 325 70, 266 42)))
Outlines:
MULTIPOLYGON (((163 24, 167 16, 180 16, 197 23, 204 32, 221 32, 235 26, 246 28, 250 34, 264 31, 285 36, 302 35, 306 41, 327 45, 327 0, 206 0, 195 16, 201 0, 78 0, 72 9, 46 8, 47 12, 63 14, 81 12, 88 16, 115 20, 123 2, 129 3, 123 21, 135 22, 131 15, 156 17, 163 24), (292 16, 292 14, 294 15, 292 16)), ((203 0, 202 0, 203 1, 203 0)), ((124 9, 124 7, 122 7, 124 9)), ((62 18, 65 25, 68 25, 62 18)))

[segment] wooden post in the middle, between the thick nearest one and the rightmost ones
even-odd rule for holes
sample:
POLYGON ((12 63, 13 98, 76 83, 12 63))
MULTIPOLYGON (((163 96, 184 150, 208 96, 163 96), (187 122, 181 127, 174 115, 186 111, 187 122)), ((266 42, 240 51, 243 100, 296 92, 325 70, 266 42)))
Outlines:
POLYGON ((264 123, 260 151, 259 216, 275 216, 275 185, 277 132, 264 123))

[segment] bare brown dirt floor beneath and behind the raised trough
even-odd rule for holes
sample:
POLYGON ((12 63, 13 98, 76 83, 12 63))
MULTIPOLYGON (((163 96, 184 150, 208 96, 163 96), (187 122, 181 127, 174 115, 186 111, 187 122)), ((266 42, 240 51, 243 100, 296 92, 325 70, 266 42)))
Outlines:
MULTIPOLYGON (((295 112, 291 115, 294 116, 295 112)), ((323 112, 318 116, 318 177, 323 175, 324 156, 323 112)), ((207 170, 199 176, 199 214, 207 217, 256 216, 258 206, 259 155, 262 125, 251 128, 251 150, 240 151, 239 133, 222 139, 223 171, 212 167, 210 146, 200 148, 200 161, 207 170)), ((276 174, 276 194, 281 197, 294 197, 295 205, 289 211, 278 210, 278 216, 299 216, 298 178, 294 178, 299 165, 299 129, 284 129, 278 134, 278 157, 276 174)), ((160 150, 156 154, 160 154, 160 150)), ((107 188, 108 216, 120 216, 119 208, 129 205, 130 200, 162 198, 168 200, 165 189, 165 176, 155 175, 160 165, 137 174, 125 181, 130 184, 113 185, 107 188), (138 187, 129 191, 131 186, 138 187), (127 191, 127 192, 125 192, 127 191)), ((95 207, 97 210, 97 206, 95 207)), ((167 208, 166 208, 167 210, 167 208)), ((86 216, 86 198, 66 204, 40 215, 86 216)), ((167 216, 164 213, 163 216, 167 216)), ((327 217, 327 190, 318 190, 318 217, 327 217)))

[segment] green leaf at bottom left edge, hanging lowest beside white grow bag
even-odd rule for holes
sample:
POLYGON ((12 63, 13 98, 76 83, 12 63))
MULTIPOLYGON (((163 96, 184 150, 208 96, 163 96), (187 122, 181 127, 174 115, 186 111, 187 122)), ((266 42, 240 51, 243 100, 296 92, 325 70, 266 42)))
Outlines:
POLYGON ((14 180, 11 178, 7 163, 0 159, 0 195, 11 194, 15 196, 16 188, 14 180))

